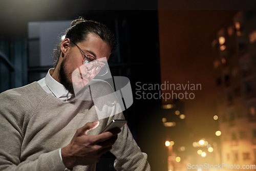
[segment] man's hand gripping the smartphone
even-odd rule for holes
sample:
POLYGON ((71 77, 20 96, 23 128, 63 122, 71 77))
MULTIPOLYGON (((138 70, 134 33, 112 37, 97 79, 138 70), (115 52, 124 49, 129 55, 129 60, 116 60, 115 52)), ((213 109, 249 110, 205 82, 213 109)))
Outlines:
POLYGON ((102 154, 110 151, 121 130, 115 128, 99 135, 87 135, 98 125, 99 121, 86 123, 76 131, 70 144, 61 149, 62 161, 67 168, 96 163, 102 154))

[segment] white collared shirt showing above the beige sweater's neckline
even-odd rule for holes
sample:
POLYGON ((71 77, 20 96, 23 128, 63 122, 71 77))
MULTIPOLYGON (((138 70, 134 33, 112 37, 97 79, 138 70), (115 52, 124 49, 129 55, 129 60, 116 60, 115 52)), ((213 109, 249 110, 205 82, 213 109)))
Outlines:
POLYGON ((62 101, 67 101, 72 98, 72 94, 58 81, 56 81, 51 74, 54 68, 51 68, 46 74, 45 78, 38 80, 41 88, 46 91, 46 93, 57 97, 62 101))

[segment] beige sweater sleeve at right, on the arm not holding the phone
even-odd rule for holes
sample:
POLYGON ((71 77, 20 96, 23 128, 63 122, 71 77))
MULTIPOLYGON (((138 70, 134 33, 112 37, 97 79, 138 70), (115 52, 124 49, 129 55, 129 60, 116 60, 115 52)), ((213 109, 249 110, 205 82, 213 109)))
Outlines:
MULTIPOLYGON (((124 119, 123 114, 115 115, 114 119, 124 119)), ((147 162, 147 154, 141 152, 127 124, 122 127, 122 131, 118 134, 118 139, 112 146, 111 153, 116 156, 114 162, 116 170, 151 170, 150 164, 147 162)))

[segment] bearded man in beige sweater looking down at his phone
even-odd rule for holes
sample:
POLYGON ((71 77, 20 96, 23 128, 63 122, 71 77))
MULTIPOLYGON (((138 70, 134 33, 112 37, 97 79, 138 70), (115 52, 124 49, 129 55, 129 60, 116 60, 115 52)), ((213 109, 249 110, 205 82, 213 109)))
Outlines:
POLYGON ((113 92, 93 78, 114 46, 104 25, 74 20, 57 48, 56 67, 37 82, 0 94, 0 170, 95 170, 108 151, 117 170, 150 170, 127 125, 99 134, 113 119, 124 119, 117 100, 102 106, 91 100, 113 92), (99 120, 97 110, 108 117, 99 120))

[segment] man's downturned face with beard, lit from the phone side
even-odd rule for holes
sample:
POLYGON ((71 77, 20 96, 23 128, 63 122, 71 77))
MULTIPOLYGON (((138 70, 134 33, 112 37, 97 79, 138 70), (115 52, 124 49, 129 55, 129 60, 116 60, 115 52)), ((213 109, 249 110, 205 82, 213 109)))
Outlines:
MULTIPOLYGON (((72 42, 70 43, 72 44, 72 42)), ((91 33, 86 41, 77 43, 77 46, 87 55, 97 59, 98 62, 103 61, 104 57, 109 59, 111 53, 109 45, 100 37, 91 33)), ((74 94, 74 89, 81 89, 96 76, 95 69, 89 71, 87 67, 83 66, 84 55, 77 46, 70 46, 59 70, 60 83, 72 94, 74 94)))

